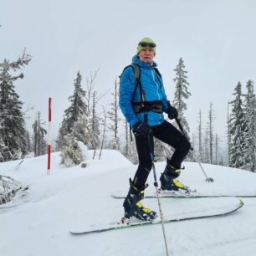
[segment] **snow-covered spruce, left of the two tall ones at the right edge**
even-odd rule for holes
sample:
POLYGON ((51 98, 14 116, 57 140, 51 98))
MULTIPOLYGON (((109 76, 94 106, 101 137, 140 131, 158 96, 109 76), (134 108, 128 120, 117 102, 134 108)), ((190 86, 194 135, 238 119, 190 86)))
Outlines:
POLYGON ((235 99, 230 102, 232 105, 232 114, 229 120, 231 134, 229 165, 243 169, 245 166, 244 149, 246 142, 244 131, 246 125, 243 113, 242 84, 240 82, 238 82, 235 87, 233 95, 235 96, 235 99))

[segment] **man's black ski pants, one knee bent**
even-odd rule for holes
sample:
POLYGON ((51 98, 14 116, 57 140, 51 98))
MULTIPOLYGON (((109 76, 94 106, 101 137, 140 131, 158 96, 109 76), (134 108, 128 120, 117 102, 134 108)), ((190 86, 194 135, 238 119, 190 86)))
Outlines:
MULTIPOLYGON (((156 137, 156 139, 175 149, 168 163, 177 169, 181 168, 182 161, 187 156, 191 147, 187 138, 183 136, 174 125, 166 120, 162 122, 161 125, 152 126, 152 129, 153 136, 156 137)), ((151 137, 151 140, 151 145, 153 145, 153 137, 151 137)), ((137 188, 143 189, 152 168, 148 138, 141 135, 136 136, 136 148, 139 156, 139 166, 133 182, 137 188)))

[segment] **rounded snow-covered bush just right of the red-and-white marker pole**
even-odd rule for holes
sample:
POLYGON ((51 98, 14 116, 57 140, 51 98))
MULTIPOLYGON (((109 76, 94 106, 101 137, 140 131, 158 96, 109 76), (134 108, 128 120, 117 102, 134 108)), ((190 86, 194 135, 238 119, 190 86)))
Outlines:
POLYGON ((65 167, 77 166, 85 160, 84 144, 80 141, 76 141, 73 134, 65 135, 62 141, 61 148, 61 161, 60 164, 65 167))

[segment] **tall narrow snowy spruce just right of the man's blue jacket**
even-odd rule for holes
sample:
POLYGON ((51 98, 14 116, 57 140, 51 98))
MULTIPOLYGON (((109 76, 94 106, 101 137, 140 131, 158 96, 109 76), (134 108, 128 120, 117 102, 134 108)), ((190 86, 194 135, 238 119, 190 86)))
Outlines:
POLYGON ((172 105, 177 108, 179 113, 179 120, 181 120, 185 131, 189 132, 190 129, 185 116, 185 110, 187 110, 187 104, 185 100, 191 96, 191 93, 187 90, 189 83, 187 82, 187 71, 185 70, 185 64, 182 58, 179 59, 179 64, 177 64, 177 67, 174 69, 174 71, 176 72, 176 78, 173 79, 173 81, 176 83, 176 90, 172 105))

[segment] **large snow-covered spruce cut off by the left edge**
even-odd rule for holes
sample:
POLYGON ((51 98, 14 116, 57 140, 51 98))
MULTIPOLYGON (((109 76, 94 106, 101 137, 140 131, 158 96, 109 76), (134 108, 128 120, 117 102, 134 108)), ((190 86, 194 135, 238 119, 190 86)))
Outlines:
POLYGON ((31 57, 23 53, 17 61, 4 59, 0 63, 0 147, 1 161, 17 159, 28 152, 25 121, 22 112, 23 103, 15 92, 13 82, 23 79, 23 74, 13 76, 11 71, 28 65, 31 57))

